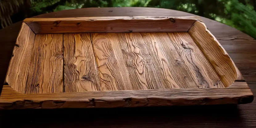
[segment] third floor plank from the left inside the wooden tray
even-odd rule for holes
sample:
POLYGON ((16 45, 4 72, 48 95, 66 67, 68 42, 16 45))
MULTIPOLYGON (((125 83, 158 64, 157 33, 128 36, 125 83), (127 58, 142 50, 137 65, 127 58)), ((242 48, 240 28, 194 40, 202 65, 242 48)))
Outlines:
POLYGON ((115 33, 92 33, 101 91, 132 90, 129 73, 115 33))

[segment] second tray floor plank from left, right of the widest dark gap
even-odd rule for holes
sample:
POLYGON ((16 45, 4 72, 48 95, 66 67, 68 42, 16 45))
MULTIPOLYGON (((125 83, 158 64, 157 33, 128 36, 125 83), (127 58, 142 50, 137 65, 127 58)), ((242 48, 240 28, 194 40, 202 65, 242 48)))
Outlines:
POLYGON ((100 91, 90 33, 64 34, 64 91, 100 91))

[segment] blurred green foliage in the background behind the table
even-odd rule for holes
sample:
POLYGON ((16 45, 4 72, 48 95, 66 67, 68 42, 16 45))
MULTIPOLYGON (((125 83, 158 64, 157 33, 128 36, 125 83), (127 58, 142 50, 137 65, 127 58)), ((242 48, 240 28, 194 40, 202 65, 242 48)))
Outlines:
MULTIPOLYGON (((0 0, 1 1, 1 0, 0 0)), ((4 1, 4 0, 3 0, 4 1)), ((22 0, 10 0, 22 1, 22 0)), ((235 27, 256 39, 256 0, 23 0, 24 18, 86 7, 157 7, 180 10, 235 27), (26 4, 27 3, 27 4, 26 4)), ((8 1, 7 1, 8 2, 8 1)), ((13 3, 12 3, 13 4, 13 3)), ((2 20, 3 18, 1 18, 2 20)), ((17 20, 17 19, 16 19, 17 20)), ((22 20, 22 19, 21 19, 22 20)), ((1 22, 2 23, 2 22, 1 22)))

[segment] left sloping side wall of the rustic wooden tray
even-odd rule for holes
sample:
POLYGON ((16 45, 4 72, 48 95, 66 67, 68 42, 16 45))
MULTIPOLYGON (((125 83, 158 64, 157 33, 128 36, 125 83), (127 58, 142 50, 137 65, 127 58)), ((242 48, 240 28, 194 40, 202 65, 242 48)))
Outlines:
POLYGON ((34 32, 26 23, 22 23, 6 75, 7 84, 19 93, 25 93, 34 39, 34 32))

